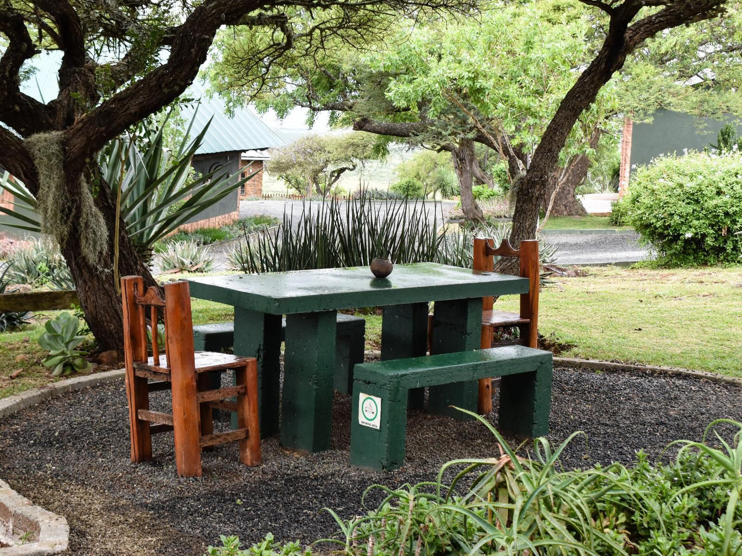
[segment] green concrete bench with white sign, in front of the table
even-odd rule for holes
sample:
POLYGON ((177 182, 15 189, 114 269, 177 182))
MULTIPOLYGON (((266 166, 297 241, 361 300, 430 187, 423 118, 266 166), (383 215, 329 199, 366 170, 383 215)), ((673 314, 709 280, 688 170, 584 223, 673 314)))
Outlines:
POLYGON ((551 353, 524 345, 355 365, 350 464, 377 471, 402 466, 407 391, 423 386, 502 377, 499 431, 548 434, 551 371, 551 353))

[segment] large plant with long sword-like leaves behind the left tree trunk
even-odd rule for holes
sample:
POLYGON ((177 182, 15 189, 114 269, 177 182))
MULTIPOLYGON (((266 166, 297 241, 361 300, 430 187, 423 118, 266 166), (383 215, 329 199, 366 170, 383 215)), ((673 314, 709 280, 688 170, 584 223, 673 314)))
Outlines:
MULTIPOLYGON (((237 180, 237 173, 217 168, 203 176, 191 176, 191 159, 200 148, 211 120, 193 139, 188 139, 193 122, 191 119, 174 153, 169 153, 165 146, 163 124, 158 129, 145 125, 144 139, 138 141, 115 139, 99 154, 102 176, 117 197, 126 231, 145 260, 151 258, 157 240, 219 202, 257 173, 237 180)), ((20 221, 7 224, 39 232, 36 199, 24 185, 10 181, 6 173, 0 188, 16 199, 13 208, 0 207, 1 212, 20 221)))

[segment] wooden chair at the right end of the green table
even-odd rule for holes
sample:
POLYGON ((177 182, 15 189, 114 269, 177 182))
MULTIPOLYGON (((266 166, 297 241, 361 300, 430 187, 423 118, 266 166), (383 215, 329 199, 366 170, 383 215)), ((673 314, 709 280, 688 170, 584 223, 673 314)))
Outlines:
MULTIPOLYGON (((493 271, 494 257, 518 257, 520 261, 519 275, 528 278, 531 284, 527 294, 520 296, 520 312, 493 310, 494 298, 482 298, 482 338, 480 347, 491 348, 495 328, 501 326, 518 327, 520 342, 529 348, 538 348, 538 319, 539 319, 539 242, 536 239, 525 239, 520 242, 520 248, 514 249, 507 238, 502 240, 498 248, 494 247, 491 238, 475 238, 473 251, 474 271, 493 271)), ((479 380, 479 414, 488 415, 492 412, 492 380, 479 380)))

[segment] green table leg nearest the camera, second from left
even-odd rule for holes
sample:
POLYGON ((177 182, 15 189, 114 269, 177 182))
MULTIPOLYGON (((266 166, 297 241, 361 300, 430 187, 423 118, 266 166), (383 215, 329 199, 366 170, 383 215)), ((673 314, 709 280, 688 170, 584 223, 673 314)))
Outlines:
POLYGON ((332 431, 336 311, 286 315, 280 443, 328 450, 332 431))

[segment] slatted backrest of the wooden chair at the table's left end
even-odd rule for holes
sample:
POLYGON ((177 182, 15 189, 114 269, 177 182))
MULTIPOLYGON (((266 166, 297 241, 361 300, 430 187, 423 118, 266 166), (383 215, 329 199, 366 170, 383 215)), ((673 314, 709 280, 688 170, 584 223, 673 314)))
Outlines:
POLYGON ((144 280, 140 276, 125 276, 121 279, 124 351, 127 365, 130 357, 131 363, 148 360, 147 320, 149 319, 153 363, 160 366, 160 342, 157 327, 160 312, 165 322, 165 358, 162 366, 171 368, 177 360, 183 357, 183 354, 188 354, 188 352, 193 360, 193 322, 188 282, 171 282, 165 284, 163 289, 165 299, 162 299, 160 292, 154 286, 145 290, 144 280))

